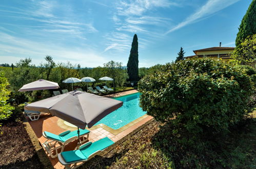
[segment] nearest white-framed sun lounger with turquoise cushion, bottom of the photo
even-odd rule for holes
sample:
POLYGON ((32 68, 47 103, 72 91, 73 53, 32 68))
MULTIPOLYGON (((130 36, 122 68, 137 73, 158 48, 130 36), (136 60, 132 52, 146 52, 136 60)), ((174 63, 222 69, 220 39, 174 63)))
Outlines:
POLYGON ((80 146, 78 150, 67 151, 58 154, 58 161, 65 165, 65 168, 76 168, 96 155, 99 155, 103 150, 112 145, 114 142, 108 137, 95 142, 87 142, 80 146), (82 162, 82 163, 81 163, 82 162), (77 165, 77 163, 80 163, 77 165))

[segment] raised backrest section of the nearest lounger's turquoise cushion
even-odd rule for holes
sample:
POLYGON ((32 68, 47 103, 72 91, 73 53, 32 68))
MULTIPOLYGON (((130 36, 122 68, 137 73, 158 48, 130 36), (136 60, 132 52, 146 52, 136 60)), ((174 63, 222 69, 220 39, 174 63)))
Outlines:
POLYGON ((87 157, 80 150, 62 152, 62 157, 67 163, 86 160, 87 157))

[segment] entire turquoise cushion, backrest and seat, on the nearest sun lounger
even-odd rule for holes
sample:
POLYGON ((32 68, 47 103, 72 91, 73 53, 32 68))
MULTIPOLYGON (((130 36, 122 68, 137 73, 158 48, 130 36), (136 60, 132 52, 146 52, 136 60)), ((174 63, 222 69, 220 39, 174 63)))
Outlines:
POLYGON ((80 150, 62 152, 61 155, 66 161, 66 163, 78 162, 82 160, 87 160, 90 155, 98 150, 104 150, 108 146, 112 145, 114 142, 108 137, 95 141, 88 146, 80 150))

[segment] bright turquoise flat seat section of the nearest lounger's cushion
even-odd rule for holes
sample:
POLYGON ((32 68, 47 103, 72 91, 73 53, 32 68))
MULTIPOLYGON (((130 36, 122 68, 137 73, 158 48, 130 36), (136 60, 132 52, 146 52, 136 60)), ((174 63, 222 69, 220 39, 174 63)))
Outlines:
POLYGON ((112 145, 114 142, 110 140, 108 137, 105 137, 103 139, 100 139, 98 141, 93 142, 92 144, 84 147, 81 149, 81 152, 86 156, 89 157, 93 153, 99 150, 104 150, 108 146, 112 145))

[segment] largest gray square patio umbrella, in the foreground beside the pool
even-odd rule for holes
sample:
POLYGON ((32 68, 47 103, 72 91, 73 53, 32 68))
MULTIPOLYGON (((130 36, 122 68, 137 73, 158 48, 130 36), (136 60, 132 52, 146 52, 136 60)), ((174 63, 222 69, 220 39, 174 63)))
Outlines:
MULTIPOLYGON (((91 128, 96 122, 116 109, 123 102, 82 91, 72 91, 27 104, 24 109, 46 112, 79 128, 91 128)), ((78 132, 79 137, 79 132, 78 132)))

